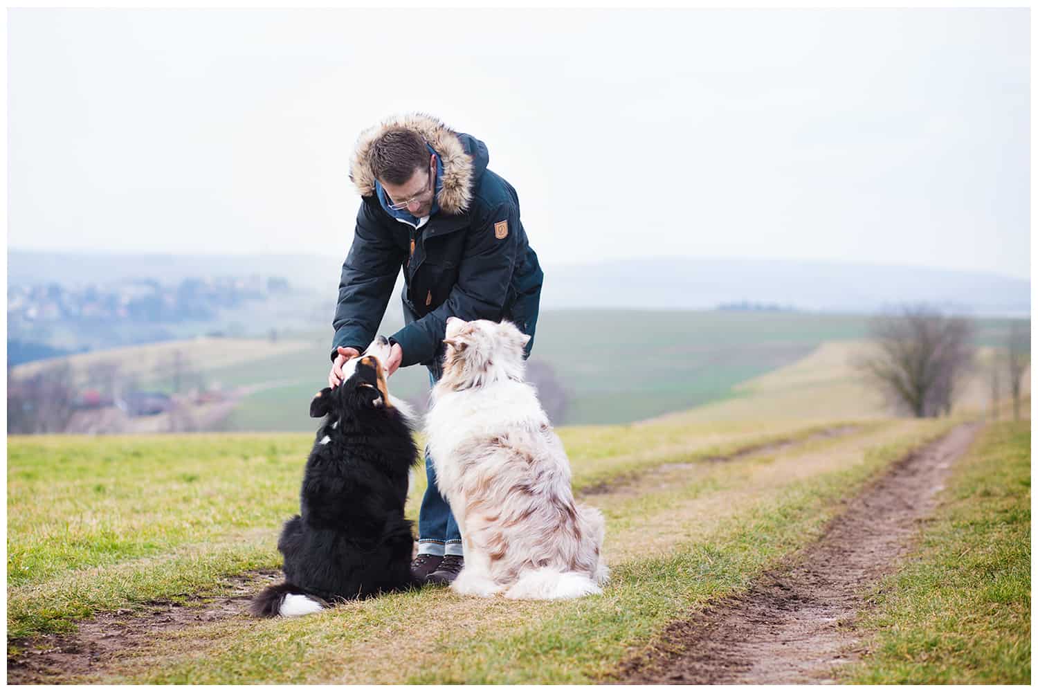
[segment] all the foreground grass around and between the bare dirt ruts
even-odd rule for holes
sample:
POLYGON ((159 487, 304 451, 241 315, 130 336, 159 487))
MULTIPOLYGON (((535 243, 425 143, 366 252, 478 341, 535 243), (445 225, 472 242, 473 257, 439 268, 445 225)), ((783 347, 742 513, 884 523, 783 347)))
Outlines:
MULTIPOLYGON (((62 682, 612 680, 666 624, 746 588, 816 539, 845 498, 961 420, 879 416, 846 378, 853 349, 812 348, 680 414, 561 427, 574 488, 607 521, 612 578, 601 597, 513 603, 427 588, 295 620, 221 618, 155 632, 62 682)), ((235 367, 245 366, 224 372, 235 367)), ((992 426, 958 468, 918 556, 874 596, 863 620, 872 656, 847 680, 1030 674, 1020 634, 1030 619, 1029 431, 1029 421, 992 426)), ((199 596, 277 568, 277 532, 298 509, 311 444, 292 433, 8 438, 9 655, 31 645, 25 637, 74 632, 95 614, 131 617, 157 601, 201 612, 199 596)), ((424 490, 419 473, 411 518, 424 490)))

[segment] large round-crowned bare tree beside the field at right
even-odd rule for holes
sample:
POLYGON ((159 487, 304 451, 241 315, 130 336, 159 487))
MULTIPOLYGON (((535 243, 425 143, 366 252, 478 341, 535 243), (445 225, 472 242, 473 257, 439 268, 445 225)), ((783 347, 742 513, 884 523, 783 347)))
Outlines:
POLYGON ((875 350, 858 367, 898 410, 917 418, 948 415, 973 357, 973 325, 925 305, 873 320, 875 350))

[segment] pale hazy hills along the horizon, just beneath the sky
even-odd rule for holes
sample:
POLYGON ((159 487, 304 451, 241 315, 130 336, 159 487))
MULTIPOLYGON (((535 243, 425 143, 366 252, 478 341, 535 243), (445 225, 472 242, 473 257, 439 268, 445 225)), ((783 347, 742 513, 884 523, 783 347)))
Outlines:
MULTIPOLYGON (((147 277, 173 282, 194 276, 260 274, 284 276, 297 287, 327 293, 333 299, 347 249, 343 256, 16 249, 8 251, 7 280, 9 284, 89 283, 147 277)), ((579 266, 554 266, 550 257, 541 259, 547 277, 545 309, 699 310, 747 301, 809 311, 874 312, 904 302, 927 302, 978 315, 1031 312, 1029 280, 984 272, 785 259, 628 259, 579 266)))

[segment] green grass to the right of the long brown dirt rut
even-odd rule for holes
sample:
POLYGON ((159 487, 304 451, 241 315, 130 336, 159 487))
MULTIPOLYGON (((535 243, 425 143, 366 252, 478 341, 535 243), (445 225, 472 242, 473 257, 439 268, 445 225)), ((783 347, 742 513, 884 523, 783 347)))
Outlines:
POLYGON ((1031 682, 1031 422, 991 425, 953 472, 922 545, 862 613, 848 682, 1031 682))

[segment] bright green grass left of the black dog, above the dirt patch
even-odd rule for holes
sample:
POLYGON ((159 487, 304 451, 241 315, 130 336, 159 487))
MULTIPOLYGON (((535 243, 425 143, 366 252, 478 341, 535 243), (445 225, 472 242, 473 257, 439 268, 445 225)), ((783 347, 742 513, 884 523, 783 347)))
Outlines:
POLYGON ((302 436, 10 438, 7 583, 47 582, 298 510, 302 436))

